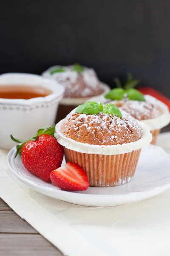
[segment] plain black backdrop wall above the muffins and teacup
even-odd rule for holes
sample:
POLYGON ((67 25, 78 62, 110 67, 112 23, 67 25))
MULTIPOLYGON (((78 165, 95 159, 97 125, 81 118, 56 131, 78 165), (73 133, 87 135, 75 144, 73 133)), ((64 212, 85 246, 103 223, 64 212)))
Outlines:
POLYGON ((111 86, 131 71, 170 97, 168 0, 7 0, 0 20, 0 73, 79 62, 111 86))

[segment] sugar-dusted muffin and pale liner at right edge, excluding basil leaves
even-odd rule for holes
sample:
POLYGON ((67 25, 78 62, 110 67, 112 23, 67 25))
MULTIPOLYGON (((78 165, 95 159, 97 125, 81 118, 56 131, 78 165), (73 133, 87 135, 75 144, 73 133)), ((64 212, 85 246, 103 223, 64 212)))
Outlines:
POLYGON ((161 128, 170 122, 170 113, 167 105, 150 95, 144 95, 144 100, 142 101, 128 99, 127 96, 124 96, 121 100, 106 99, 105 96, 93 97, 90 100, 102 103, 111 102, 118 106, 120 110, 126 111, 137 120, 148 125, 153 136, 151 144, 156 143, 161 128))

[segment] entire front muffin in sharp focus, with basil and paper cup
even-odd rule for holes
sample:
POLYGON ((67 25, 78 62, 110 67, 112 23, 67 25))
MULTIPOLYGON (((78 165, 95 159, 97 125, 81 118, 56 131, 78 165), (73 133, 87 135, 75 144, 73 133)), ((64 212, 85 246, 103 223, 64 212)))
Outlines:
POLYGON ((100 103, 99 112, 93 114, 93 104, 98 103, 71 111, 56 125, 55 137, 64 146, 66 162, 82 166, 90 186, 125 184, 132 180, 141 148, 150 143, 152 135, 146 125, 115 105, 100 103))

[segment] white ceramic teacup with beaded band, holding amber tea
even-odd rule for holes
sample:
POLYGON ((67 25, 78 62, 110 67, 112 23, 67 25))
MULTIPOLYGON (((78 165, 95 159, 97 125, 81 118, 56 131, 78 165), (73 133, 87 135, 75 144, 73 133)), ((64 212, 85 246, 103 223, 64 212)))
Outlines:
POLYGON ((3 85, 41 86, 51 91, 45 97, 31 99, 0 98, 0 148, 10 149, 16 145, 10 134, 26 140, 42 126, 53 124, 64 88, 54 80, 23 73, 1 75, 0 86, 3 85))

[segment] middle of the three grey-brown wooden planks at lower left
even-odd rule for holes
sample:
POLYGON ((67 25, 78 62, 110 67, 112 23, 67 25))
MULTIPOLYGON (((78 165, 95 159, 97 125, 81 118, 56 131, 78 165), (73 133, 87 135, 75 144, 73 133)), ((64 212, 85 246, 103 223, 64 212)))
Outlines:
POLYGON ((14 211, 0 211, 0 233, 35 233, 25 220, 20 218, 14 211))

